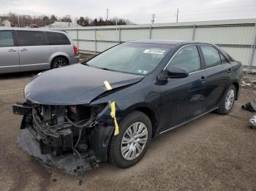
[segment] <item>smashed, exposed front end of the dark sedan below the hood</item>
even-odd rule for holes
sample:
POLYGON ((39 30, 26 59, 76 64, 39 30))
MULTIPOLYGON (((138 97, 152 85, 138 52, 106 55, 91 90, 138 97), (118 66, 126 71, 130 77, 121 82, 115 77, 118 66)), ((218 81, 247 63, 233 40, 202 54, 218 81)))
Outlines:
POLYGON ((12 109, 23 115, 19 147, 42 163, 82 175, 108 160, 114 130, 108 104, 50 106, 26 101, 12 109))

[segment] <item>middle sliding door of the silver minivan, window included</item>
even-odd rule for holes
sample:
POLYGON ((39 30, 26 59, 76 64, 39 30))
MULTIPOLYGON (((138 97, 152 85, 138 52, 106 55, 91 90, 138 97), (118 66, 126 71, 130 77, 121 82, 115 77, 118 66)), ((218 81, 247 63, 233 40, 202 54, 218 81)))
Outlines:
POLYGON ((50 46, 42 31, 17 31, 20 70, 50 69, 50 46))

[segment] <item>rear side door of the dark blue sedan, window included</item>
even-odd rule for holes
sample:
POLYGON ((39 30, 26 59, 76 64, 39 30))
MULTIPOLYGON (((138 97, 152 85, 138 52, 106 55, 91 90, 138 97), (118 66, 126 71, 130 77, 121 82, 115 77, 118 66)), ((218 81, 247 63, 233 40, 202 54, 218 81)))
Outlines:
POLYGON ((206 69, 206 110, 216 108, 230 85, 232 65, 213 46, 200 45, 206 69))

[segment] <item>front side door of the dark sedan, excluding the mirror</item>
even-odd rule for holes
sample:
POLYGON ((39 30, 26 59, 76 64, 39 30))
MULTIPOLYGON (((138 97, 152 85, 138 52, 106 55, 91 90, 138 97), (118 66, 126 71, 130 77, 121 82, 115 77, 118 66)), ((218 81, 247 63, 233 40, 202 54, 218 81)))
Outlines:
POLYGON ((196 45, 182 47, 167 67, 183 68, 189 76, 167 79, 161 85, 162 106, 160 113, 165 121, 164 129, 174 127, 203 113, 205 101, 205 75, 196 45))

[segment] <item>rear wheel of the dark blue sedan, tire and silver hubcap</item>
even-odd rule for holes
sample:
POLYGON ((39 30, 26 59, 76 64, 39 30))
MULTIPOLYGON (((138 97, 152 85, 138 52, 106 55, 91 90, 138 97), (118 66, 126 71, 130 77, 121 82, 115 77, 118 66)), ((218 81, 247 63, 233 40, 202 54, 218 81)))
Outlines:
POLYGON ((236 87, 234 85, 230 85, 230 87, 227 89, 225 95, 222 98, 222 102, 219 105, 219 109, 217 109, 216 112, 219 114, 228 114, 233 108, 235 99, 236 87))

